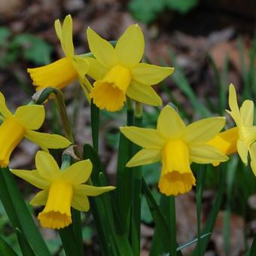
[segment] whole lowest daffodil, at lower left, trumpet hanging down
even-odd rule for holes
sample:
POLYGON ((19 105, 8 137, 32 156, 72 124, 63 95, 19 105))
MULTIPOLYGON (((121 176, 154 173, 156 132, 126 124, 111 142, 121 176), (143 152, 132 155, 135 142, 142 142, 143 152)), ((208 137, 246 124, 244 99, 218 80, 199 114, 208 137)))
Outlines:
POLYGON ((74 163, 60 171, 53 157, 38 151, 35 156, 36 169, 12 169, 15 175, 42 189, 30 201, 32 206, 45 206, 39 213, 38 220, 42 227, 59 229, 72 223, 71 207, 81 212, 90 209, 88 196, 114 190, 115 187, 93 187, 84 184, 92 172, 90 160, 74 163))

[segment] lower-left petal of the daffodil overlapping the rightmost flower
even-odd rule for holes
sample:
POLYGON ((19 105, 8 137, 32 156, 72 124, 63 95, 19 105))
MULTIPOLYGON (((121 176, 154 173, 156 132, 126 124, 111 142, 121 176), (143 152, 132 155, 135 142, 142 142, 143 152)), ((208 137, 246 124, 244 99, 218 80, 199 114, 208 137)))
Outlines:
POLYGON ((133 158, 126 163, 127 167, 144 166, 146 164, 155 163, 162 158, 161 151, 159 149, 142 149, 133 158))

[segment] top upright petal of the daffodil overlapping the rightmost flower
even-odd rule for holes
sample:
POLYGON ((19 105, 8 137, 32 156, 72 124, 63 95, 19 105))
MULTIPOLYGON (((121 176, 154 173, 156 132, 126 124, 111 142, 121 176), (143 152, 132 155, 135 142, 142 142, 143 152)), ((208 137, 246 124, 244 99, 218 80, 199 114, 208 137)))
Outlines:
POLYGON ((184 133, 185 124, 177 111, 166 105, 160 112, 157 120, 157 131, 166 139, 181 136, 184 133))

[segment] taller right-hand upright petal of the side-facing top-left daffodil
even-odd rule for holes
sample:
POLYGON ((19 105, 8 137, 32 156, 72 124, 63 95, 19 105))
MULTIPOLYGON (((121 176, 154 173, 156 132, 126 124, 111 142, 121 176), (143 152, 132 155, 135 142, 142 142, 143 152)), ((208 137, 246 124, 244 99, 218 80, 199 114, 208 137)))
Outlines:
POLYGON ((66 56, 74 55, 74 45, 72 38, 72 17, 71 15, 67 15, 62 25, 62 50, 66 54, 66 56))

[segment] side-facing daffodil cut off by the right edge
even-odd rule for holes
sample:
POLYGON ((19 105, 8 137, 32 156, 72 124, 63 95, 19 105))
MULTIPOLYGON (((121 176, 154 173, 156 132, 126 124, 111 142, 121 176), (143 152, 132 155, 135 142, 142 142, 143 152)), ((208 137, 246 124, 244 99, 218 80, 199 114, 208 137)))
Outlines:
POLYGON ((251 157, 251 169, 256 175, 256 126, 253 125, 254 103, 245 100, 239 109, 236 99, 236 89, 230 84, 230 111, 227 111, 236 123, 236 127, 219 133, 209 142, 224 154, 238 152, 245 165, 248 164, 248 152, 251 157))

